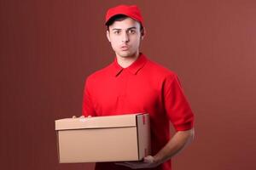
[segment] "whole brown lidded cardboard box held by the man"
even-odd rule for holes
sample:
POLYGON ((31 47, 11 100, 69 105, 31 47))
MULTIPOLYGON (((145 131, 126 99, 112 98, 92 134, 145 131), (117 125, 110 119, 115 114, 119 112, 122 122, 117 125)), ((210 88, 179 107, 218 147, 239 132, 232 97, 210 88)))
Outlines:
POLYGON ((60 163, 140 161, 150 155, 148 114, 55 121, 60 163))

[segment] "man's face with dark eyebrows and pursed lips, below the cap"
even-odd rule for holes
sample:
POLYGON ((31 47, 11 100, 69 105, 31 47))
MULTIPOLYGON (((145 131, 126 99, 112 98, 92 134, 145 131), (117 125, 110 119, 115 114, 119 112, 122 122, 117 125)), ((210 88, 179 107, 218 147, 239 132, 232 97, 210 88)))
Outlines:
POLYGON ((113 25, 109 26, 107 37, 115 54, 124 58, 138 54, 143 38, 139 22, 131 18, 113 22, 113 25))

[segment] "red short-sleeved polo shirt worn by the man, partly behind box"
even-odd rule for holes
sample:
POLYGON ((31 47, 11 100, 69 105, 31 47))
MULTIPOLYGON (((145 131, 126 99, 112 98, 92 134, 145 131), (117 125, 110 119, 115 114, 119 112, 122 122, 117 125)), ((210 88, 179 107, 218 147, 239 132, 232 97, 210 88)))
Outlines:
MULTIPOLYGON (((154 156, 170 139, 169 122, 177 131, 193 127, 194 114, 177 75, 140 54, 129 67, 115 58, 111 65, 90 75, 84 86, 84 116, 146 112, 150 116, 154 156)), ((125 170, 113 162, 96 163, 96 170, 125 170)), ((171 170, 166 161, 155 170, 171 170)), ((151 168, 152 170, 152 168, 151 168)))

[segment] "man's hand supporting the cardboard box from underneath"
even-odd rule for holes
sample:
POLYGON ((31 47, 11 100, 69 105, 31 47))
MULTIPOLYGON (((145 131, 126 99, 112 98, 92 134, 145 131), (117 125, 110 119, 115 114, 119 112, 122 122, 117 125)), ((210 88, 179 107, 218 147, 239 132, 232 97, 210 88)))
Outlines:
POLYGON ((153 156, 146 156, 143 158, 143 161, 124 161, 116 162, 115 164, 130 167, 131 169, 153 168, 159 166, 159 162, 157 162, 153 156))

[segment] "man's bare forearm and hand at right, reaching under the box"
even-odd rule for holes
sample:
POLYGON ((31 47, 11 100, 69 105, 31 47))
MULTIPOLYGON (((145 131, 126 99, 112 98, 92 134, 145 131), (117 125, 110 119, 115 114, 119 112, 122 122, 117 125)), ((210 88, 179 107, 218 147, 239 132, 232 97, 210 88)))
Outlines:
POLYGON ((172 156, 177 155, 181 150, 185 148, 194 139, 194 128, 186 131, 177 131, 169 140, 169 142, 155 155, 146 156, 142 162, 122 162, 116 163, 133 169, 137 168, 150 168, 157 167, 161 163, 168 161, 172 156))

